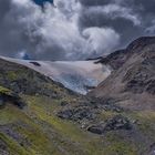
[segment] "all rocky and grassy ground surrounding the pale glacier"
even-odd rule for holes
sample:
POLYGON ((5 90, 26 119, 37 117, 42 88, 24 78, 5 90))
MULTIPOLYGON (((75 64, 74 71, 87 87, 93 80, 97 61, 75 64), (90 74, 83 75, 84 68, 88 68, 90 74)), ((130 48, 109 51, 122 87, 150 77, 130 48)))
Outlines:
POLYGON ((113 72, 89 95, 0 59, 0 155, 153 155, 154 43, 141 38, 96 62, 113 72))

